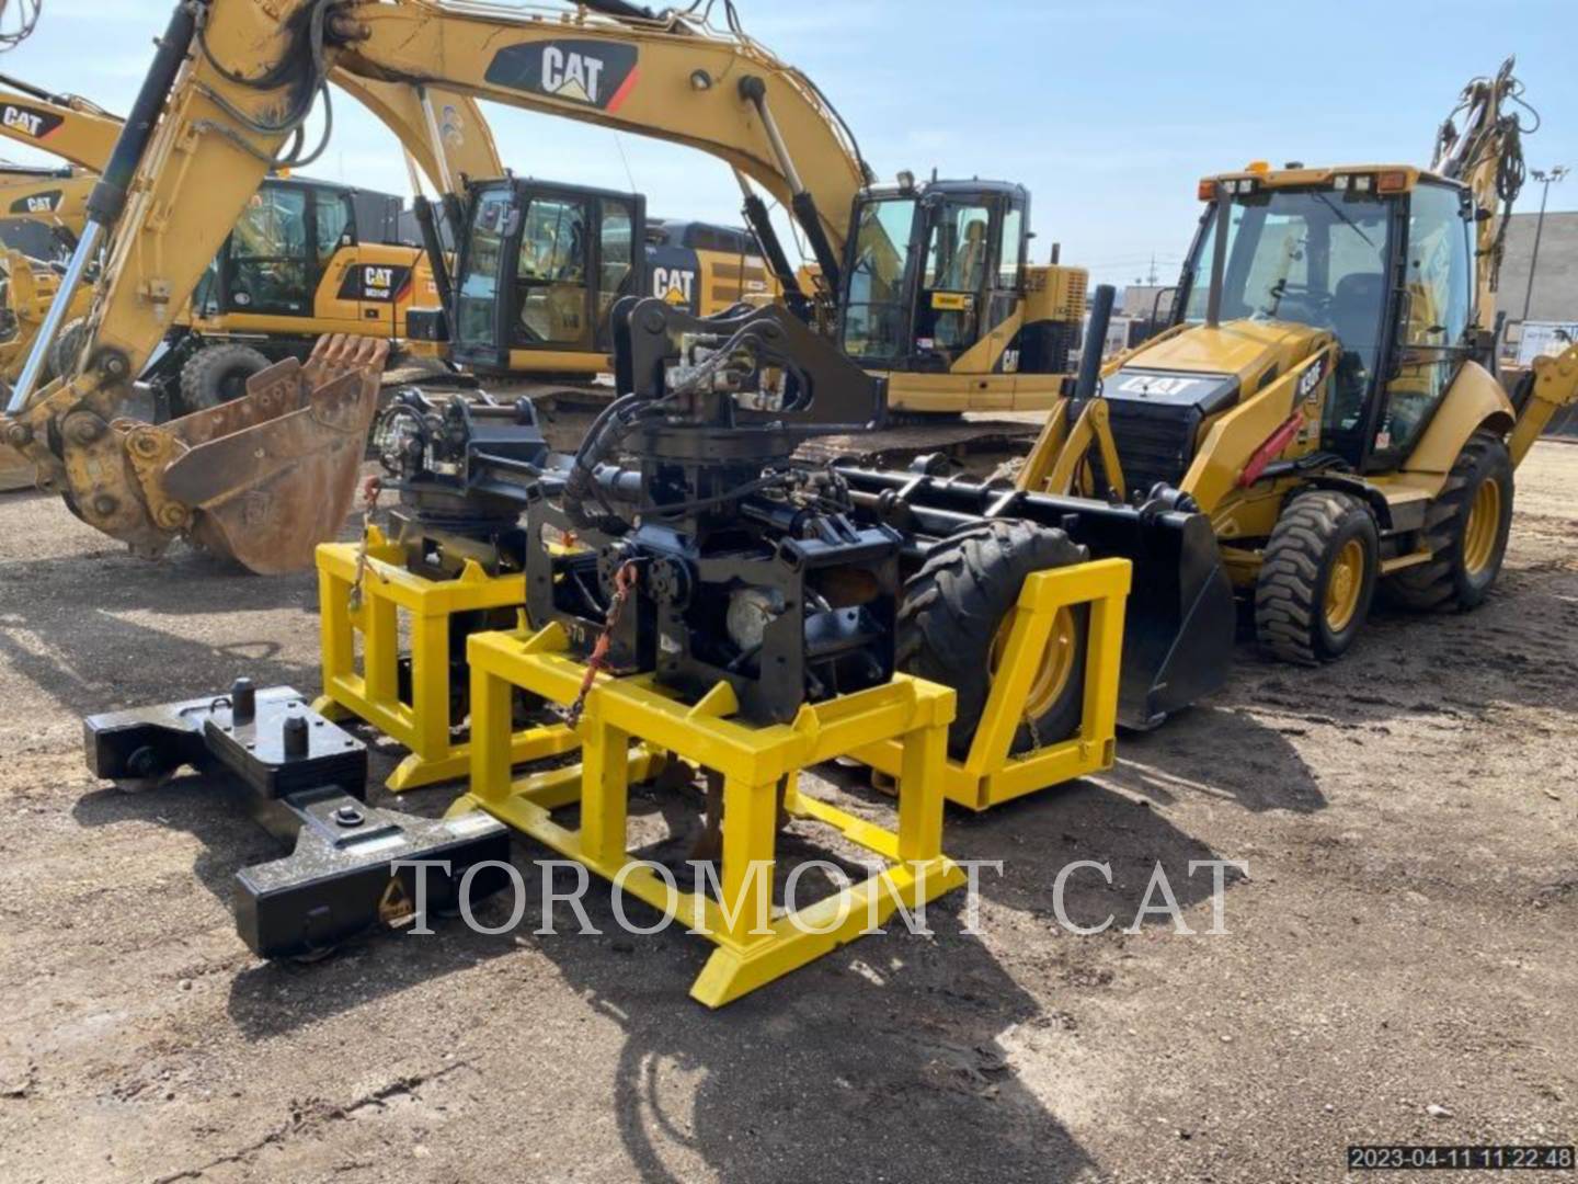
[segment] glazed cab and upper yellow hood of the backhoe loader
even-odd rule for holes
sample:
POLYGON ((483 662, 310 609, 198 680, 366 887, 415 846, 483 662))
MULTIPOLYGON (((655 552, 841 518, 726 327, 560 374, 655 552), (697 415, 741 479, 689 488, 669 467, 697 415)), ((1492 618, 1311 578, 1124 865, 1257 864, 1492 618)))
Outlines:
MULTIPOLYGON (((1330 335, 1340 354, 1319 447, 1359 472, 1397 469, 1460 365, 1483 349, 1469 191, 1408 167, 1251 166, 1201 182, 1201 197, 1174 320, 1217 336, 1160 343, 1122 376, 1131 384, 1185 354, 1180 371, 1231 379, 1215 407, 1225 410, 1330 335)), ((1108 392, 1124 398, 1124 387, 1108 392)))

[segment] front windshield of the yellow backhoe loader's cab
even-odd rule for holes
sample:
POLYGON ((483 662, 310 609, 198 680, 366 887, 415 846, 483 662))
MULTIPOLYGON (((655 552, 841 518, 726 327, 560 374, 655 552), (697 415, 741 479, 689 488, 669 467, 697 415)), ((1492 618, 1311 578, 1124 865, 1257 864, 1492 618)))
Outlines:
MULTIPOLYGON (((1291 320, 1329 328, 1343 346, 1327 429, 1348 431, 1381 355, 1390 205, 1370 194, 1272 189, 1234 200, 1221 283, 1223 320, 1291 320)), ((1210 303, 1215 207, 1190 257, 1184 319, 1210 303)))

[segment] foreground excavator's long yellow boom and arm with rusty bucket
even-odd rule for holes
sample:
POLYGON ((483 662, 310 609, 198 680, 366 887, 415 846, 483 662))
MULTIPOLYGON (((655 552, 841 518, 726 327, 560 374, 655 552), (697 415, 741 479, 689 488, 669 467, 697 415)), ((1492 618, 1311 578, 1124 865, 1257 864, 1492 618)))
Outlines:
MULTIPOLYGON (((467 106, 472 99, 697 147, 789 207, 824 270, 836 273, 868 170, 816 87, 737 28, 724 33, 679 16, 631 16, 606 0, 598 8, 609 11, 582 6, 549 17, 431 0, 178 5, 88 202, 88 223, 62 284, 74 294, 88 262, 106 249, 82 371, 36 390, 44 352, 65 317, 65 308, 58 317, 52 308, 6 409, 5 439, 36 466, 41 486, 148 556, 186 535, 254 570, 279 570, 287 564, 245 543, 248 521, 264 540, 281 537, 281 521, 311 518, 331 523, 317 530, 338 529, 353 481, 320 469, 353 472, 360 461, 360 448, 352 455, 346 447, 357 415, 344 409, 342 395, 331 414, 319 414, 311 392, 271 401, 248 395, 240 401, 246 406, 230 404, 229 436, 211 415, 200 425, 159 426, 118 415, 133 376, 259 183, 281 163, 281 150, 301 139, 330 81, 349 82, 347 90, 369 103, 445 191, 469 169, 497 172, 486 125, 467 106), (450 96, 459 123, 451 120, 447 131, 434 114, 450 96), (458 142, 459 125, 466 126, 458 142), (301 422, 284 431, 271 418, 279 410, 316 415, 320 431, 301 422), (257 447, 248 453, 252 437, 257 447), (194 480, 200 448, 221 458, 215 444, 226 445, 222 480, 211 474, 194 480), (254 496, 256 477, 235 464, 240 455, 268 474, 267 496, 254 496), (284 480, 287 470, 301 478, 284 480), (200 497, 193 493, 199 486, 200 497), (325 489, 338 502, 327 511, 325 489), (311 502, 312 513, 297 513, 298 502, 311 502), (219 510, 229 515, 224 530, 211 529, 219 510)), ((267 393, 265 387, 257 384, 257 392, 267 393)), ((294 532, 290 541, 295 564, 309 562, 319 538, 294 532)))

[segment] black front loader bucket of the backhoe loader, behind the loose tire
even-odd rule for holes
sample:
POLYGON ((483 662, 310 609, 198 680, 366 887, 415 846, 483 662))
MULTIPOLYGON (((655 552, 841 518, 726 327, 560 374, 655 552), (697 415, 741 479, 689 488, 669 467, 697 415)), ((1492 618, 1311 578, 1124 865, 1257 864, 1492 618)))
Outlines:
POLYGON ((1092 559, 1127 559, 1133 587, 1124 614, 1117 721, 1155 728, 1228 680, 1237 613, 1206 515, 1108 505, 996 485, 841 467, 855 508, 925 540, 983 518, 1018 518, 1065 532, 1092 559))

